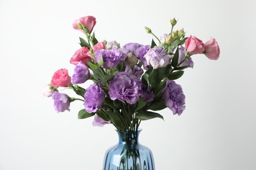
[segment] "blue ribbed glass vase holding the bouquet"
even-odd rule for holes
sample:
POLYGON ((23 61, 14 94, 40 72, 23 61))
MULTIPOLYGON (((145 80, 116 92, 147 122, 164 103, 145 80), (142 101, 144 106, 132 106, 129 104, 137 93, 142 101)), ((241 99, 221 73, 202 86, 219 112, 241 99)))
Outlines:
POLYGON ((151 150, 139 144, 138 131, 117 131, 119 143, 106 151, 103 170, 154 170, 151 150))

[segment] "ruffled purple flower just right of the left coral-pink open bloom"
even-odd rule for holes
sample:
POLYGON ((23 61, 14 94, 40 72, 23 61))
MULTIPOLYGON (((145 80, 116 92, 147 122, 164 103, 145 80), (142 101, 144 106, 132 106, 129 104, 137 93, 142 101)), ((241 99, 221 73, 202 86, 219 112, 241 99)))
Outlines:
POLYGON ((96 60, 100 62, 100 56, 102 55, 104 64, 103 67, 108 69, 113 69, 116 67, 123 59, 125 59, 126 55, 121 48, 118 49, 101 49, 95 52, 96 60))

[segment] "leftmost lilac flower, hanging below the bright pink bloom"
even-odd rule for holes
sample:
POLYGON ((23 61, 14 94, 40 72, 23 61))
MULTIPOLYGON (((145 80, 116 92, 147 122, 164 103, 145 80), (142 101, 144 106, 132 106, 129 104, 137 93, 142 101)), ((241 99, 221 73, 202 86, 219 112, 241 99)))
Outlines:
POLYGON ((65 93, 53 92, 53 100, 56 112, 70 111, 71 99, 65 93))

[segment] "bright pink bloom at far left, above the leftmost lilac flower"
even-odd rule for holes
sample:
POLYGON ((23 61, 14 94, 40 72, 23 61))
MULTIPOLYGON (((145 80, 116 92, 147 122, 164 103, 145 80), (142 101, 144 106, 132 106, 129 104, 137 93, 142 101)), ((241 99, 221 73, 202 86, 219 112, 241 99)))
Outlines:
POLYGON ((53 74, 53 78, 51 81, 54 87, 68 87, 71 83, 71 77, 68 75, 67 69, 59 69, 53 74))

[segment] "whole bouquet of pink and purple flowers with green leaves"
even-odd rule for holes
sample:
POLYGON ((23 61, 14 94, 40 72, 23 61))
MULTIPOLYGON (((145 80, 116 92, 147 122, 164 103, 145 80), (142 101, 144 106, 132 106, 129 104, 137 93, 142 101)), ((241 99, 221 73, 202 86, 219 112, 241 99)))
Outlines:
MULTIPOLYGON (((99 42, 93 32, 95 24, 93 16, 75 20, 74 29, 86 39, 79 37, 81 48, 70 59, 74 73, 70 76, 67 69, 56 71, 44 94, 53 98, 56 112, 70 110, 70 103, 80 101, 79 119, 93 116, 93 126, 112 124, 117 131, 133 132, 135 139, 142 120, 163 119, 158 110, 168 107, 173 114, 182 114, 185 95, 175 80, 181 78, 184 69, 193 67, 193 55, 219 58, 215 39, 203 43, 197 37, 186 37, 184 29, 174 31, 175 18, 171 31, 161 38, 145 27, 153 36, 150 44, 129 42, 122 47, 116 41, 99 42), (91 85, 85 89, 82 85, 89 80, 91 85), (60 87, 74 90, 76 97, 58 92, 60 87)), ((128 157, 139 154, 127 153, 128 157)))

